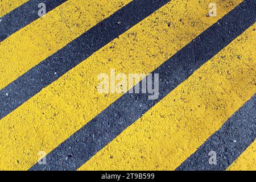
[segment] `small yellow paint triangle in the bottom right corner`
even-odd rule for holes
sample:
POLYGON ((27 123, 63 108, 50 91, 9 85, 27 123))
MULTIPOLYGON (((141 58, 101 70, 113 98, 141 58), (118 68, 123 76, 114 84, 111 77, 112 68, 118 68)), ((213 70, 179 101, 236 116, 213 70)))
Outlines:
POLYGON ((256 140, 246 148, 228 171, 256 171, 256 140))

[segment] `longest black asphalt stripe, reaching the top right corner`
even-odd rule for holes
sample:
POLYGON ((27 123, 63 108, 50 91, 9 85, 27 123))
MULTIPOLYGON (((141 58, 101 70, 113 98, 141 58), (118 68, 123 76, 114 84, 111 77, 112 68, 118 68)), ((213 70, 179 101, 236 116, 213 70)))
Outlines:
POLYGON ((228 46, 255 22, 255 1, 245 0, 218 23, 204 31, 153 73, 159 73, 159 98, 124 94, 47 156, 47 164, 31 170, 75 170, 167 96, 196 69, 228 46))

